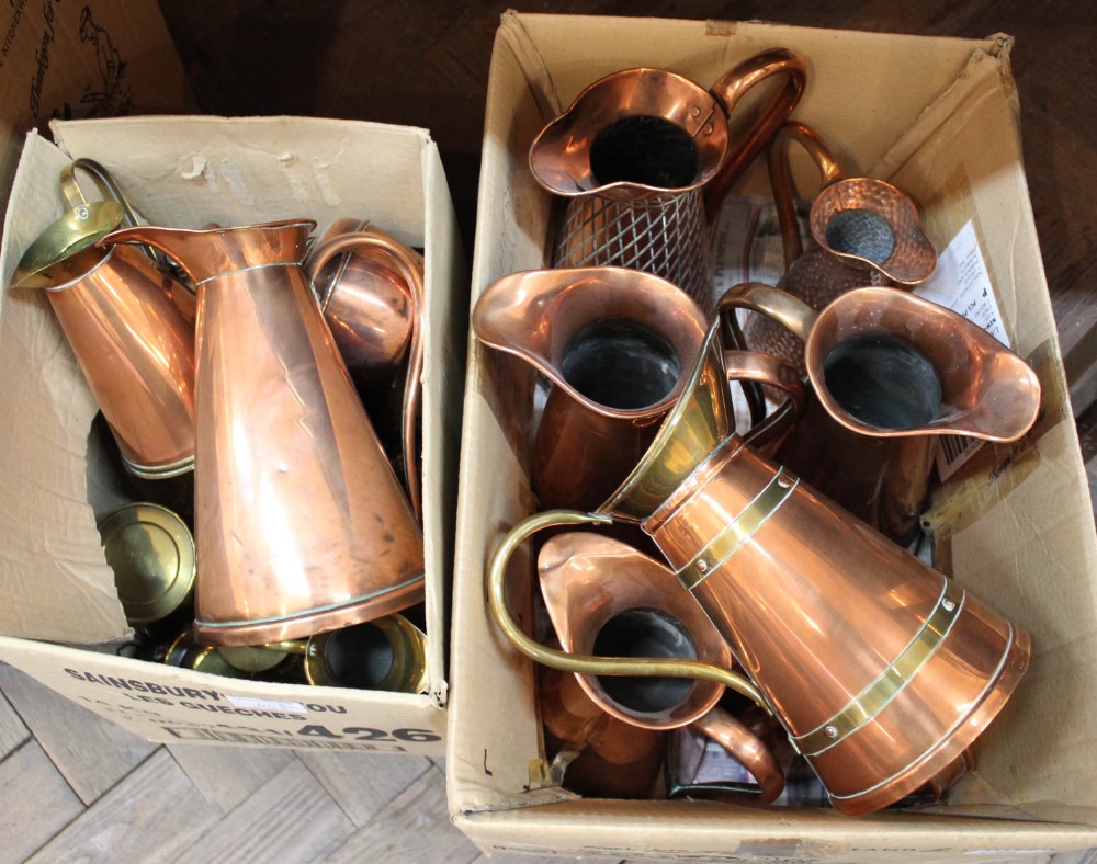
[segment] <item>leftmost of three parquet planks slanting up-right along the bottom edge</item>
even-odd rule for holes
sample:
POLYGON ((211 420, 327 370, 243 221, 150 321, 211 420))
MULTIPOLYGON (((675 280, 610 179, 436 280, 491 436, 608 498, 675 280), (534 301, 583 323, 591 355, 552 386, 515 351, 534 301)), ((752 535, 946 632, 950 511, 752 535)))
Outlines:
POLYGON ((30 864, 173 861, 200 842, 219 816, 168 751, 160 749, 43 846, 30 864))

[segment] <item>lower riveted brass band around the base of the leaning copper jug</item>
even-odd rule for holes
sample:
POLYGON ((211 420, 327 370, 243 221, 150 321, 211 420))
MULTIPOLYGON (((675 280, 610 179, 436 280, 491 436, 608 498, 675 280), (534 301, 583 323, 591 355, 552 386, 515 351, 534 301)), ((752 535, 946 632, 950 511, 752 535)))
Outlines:
POLYGON ((840 743, 847 736, 859 729, 879 714, 903 687, 918 673, 923 664, 934 656, 952 624, 960 615, 964 592, 951 580, 945 580, 945 588, 937 606, 911 644, 884 670, 875 681, 855 696, 850 703, 829 720, 810 732, 795 737, 796 748, 805 757, 818 755, 840 743))

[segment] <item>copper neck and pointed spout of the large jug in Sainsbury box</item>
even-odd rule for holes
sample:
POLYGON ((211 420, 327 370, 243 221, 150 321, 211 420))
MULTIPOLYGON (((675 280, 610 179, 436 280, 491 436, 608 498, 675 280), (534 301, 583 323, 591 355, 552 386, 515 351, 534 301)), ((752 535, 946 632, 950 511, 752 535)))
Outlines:
POLYGON ((174 259, 196 285, 260 266, 297 264, 305 255, 312 219, 286 219, 235 228, 163 228, 138 225, 106 235, 104 245, 140 243, 174 259))

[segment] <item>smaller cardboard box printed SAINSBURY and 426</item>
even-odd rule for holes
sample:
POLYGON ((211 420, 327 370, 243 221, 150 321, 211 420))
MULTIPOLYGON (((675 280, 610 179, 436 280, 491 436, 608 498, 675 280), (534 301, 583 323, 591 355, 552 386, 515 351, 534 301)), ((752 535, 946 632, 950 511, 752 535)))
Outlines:
MULTIPOLYGON (((95 530, 113 502, 97 411, 48 302, 5 291, 0 307, 0 658, 154 741, 438 754, 464 370, 465 293, 438 148, 418 128, 301 117, 55 122, 27 136, 0 252, 8 285, 23 250, 60 217, 58 172, 100 161, 149 221, 201 227, 370 218, 426 250, 422 374, 428 685, 421 694, 236 681, 116 657, 127 634, 95 530), (55 644, 50 644, 55 643, 55 644), (59 644, 66 644, 65 646, 59 644)), ((201 566, 201 562, 200 562, 201 566)))

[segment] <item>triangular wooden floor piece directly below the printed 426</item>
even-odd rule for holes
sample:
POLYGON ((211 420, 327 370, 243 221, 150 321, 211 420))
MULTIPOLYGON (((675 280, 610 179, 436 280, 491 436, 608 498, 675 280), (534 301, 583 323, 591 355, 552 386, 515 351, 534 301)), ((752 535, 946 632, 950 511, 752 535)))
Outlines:
POLYGON ((358 828, 431 770, 423 757, 312 750, 297 755, 358 828))

